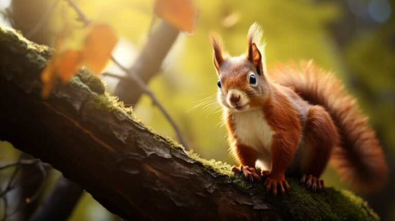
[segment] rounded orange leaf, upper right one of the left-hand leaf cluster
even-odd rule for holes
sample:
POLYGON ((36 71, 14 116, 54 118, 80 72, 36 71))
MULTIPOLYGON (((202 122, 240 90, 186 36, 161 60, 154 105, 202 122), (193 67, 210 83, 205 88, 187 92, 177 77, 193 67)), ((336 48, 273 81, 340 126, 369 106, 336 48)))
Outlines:
POLYGON ((83 63, 99 73, 110 59, 111 51, 118 42, 117 35, 106 25, 95 25, 86 35, 82 49, 83 63))

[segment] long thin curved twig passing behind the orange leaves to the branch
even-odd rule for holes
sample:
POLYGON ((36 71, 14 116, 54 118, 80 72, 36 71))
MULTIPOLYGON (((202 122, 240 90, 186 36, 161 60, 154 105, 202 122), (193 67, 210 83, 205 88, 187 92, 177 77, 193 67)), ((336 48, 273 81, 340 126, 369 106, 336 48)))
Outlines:
MULTIPOLYGON (((69 3, 69 5, 71 7, 73 7, 76 10, 76 12, 78 13, 78 15, 80 17, 80 21, 84 22, 85 25, 88 25, 89 23, 91 23, 91 21, 86 17, 84 12, 76 5, 74 0, 66 0, 66 1, 69 3)), ((153 20, 153 22, 154 22, 154 20, 153 20)), ((153 25, 153 23, 152 23, 152 25, 153 25)), ((113 56, 111 56, 111 59, 119 68, 121 68, 123 71, 128 73, 128 75, 130 77, 130 78, 127 78, 128 80, 133 80, 134 82, 136 82, 138 84, 138 86, 141 88, 141 90, 144 91, 144 93, 146 93, 151 98, 152 103, 159 108, 159 110, 163 113, 163 115, 165 115, 166 119, 169 121, 169 123, 173 127, 174 132, 177 135, 178 141, 181 144, 183 144, 184 147, 187 149, 186 142, 183 139, 181 132, 178 129, 178 126, 176 125, 174 120, 171 118, 169 113, 166 111, 165 107, 158 101, 158 99, 156 98, 156 96, 152 92, 152 90, 146 85, 146 83, 140 78, 140 76, 136 75, 136 73, 132 72, 128 68, 123 67, 113 56)), ((107 75, 107 76, 110 76, 110 75, 107 75)), ((115 77, 115 76, 112 76, 112 77, 115 77)), ((119 77, 119 76, 116 76, 116 77, 119 77)))

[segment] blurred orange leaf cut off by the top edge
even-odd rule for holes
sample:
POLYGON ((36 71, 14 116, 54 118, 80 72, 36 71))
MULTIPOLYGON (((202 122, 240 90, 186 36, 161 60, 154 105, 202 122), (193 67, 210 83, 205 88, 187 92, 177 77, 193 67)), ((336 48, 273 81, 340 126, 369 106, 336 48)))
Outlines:
POLYGON ((180 30, 194 30, 196 8, 190 0, 156 0, 154 12, 180 30))

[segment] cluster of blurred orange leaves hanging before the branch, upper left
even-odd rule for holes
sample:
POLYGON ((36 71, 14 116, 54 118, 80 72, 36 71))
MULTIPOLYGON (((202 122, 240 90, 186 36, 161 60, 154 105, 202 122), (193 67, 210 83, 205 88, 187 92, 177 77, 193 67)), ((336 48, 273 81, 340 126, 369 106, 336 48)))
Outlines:
POLYGON ((55 40, 55 49, 50 63, 43 69, 41 80, 43 89, 41 96, 47 98, 55 86, 57 78, 67 82, 82 65, 86 65, 99 73, 110 59, 111 52, 118 38, 106 25, 94 25, 85 37, 84 46, 80 50, 64 49, 65 29, 59 32, 55 40))

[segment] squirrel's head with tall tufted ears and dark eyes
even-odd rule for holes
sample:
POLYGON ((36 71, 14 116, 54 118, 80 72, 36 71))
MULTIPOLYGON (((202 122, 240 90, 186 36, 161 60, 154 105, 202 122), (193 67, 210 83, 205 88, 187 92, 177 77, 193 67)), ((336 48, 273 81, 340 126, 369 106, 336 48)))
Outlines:
POLYGON ((248 111, 261 108, 268 99, 270 84, 266 76, 262 29, 254 23, 248 30, 247 51, 230 57, 224 51, 221 37, 211 33, 214 66, 219 80, 218 101, 229 111, 248 111))

